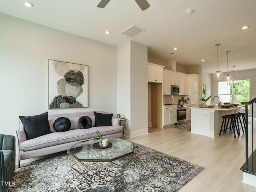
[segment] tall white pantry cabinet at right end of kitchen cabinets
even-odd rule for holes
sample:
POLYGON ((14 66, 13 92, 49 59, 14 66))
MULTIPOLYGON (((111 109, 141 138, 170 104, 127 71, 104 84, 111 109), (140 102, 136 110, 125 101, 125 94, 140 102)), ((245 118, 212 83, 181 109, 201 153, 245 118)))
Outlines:
POLYGON ((191 104, 195 106, 199 105, 199 75, 189 75, 189 96, 191 104))

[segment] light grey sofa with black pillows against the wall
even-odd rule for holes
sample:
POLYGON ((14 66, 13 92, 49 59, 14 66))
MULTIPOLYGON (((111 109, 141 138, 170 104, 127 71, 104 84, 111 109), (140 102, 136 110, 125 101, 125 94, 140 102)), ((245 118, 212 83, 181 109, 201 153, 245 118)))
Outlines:
MULTIPOLYGON (((98 112, 105 113, 105 112, 98 112)), ((102 132, 103 138, 121 138, 123 127, 119 126, 119 119, 112 118, 112 126, 98 126, 95 125, 94 112, 77 112, 77 113, 66 113, 66 114, 48 114, 48 121, 50 124, 50 130, 52 133, 39 136, 27 140, 26 134, 23 129, 23 124, 20 121, 20 128, 16 132, 18 138, 18 151, 19 151, 19 167, 20 160, 28 158, 34 158, 38 156, 44 156, 48 154, 54 154, 68 150, 78 142, 97 139, 97 135, 94 134, 96 130, 102 132), (80 129, 78 127, 78 119, 81 116, 89 116, 92 119, 92 128, 80 129), (71 128, 65 132, 55 132, 53 129, 54 120, 58 117, 66 117, 71 121, 71 128)))

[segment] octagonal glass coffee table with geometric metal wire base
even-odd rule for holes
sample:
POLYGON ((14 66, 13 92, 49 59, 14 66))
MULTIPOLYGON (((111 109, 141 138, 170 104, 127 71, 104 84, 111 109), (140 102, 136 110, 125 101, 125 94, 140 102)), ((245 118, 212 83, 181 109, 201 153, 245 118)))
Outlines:
POLYGON ((96 181, 96 176, 111 181, 123 174, 136 157, 134 143, 128 140, 109 138, 112 146, 103 149, 95 147, 97 142, 79 142, 67 151, 70 166, 90 182, 96 181))

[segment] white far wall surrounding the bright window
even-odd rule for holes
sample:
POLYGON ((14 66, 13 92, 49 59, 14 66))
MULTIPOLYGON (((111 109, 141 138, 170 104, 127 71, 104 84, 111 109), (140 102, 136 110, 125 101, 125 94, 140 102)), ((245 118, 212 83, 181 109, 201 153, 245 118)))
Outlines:
MULTIPOLYGON (((227 73, 223 73, 224 76, 227 73)), ((233 76, 233 72, 230 72, 233 76)), ((250 80, 250 100, 256 97, 256 69, 250 70, 242 70, 242 71, 235 71, 235 80, 250 80)), ((220 81, 224 81, 221 79, 220 81)), ((212 96, 218 96, 218 81, 212 77, 212 96)), ((254 116, 256 116, 256 104, 254 104, 254 116)), ((242 111, 244 112, 244 110, 242 111)), ((251 116, 251 110, 248 110, 249 115, 251 116)))

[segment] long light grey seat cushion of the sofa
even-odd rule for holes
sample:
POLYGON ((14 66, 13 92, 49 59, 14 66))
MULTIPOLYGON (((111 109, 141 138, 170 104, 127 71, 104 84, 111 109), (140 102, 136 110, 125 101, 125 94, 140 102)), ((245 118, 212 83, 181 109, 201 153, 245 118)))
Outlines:
POLYGON ((30 151, 68 142, 94 139, 98 138, 97 135, 94 134, 96 130, 102 132, 102 137, 104 137, 104 135, 122 132, 123 127, 115 125, 92 127, 90 129, 74 129, 65 132, 53 132, 51 134, 43 135, 38 138, 26 140, 20 143, 19 148, 21 151, 30 151))

